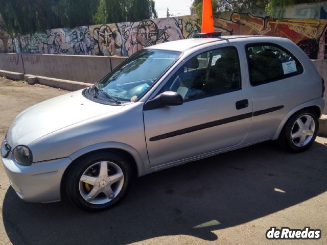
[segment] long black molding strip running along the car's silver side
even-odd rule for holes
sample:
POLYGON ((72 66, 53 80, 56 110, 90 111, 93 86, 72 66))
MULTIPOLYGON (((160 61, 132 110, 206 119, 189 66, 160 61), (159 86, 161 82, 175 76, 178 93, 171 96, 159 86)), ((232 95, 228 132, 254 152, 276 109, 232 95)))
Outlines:
POLYGON ((195 131, 202 130, 202 129, 212 128, 212 127, 216 127, 219 125, 228 124, 229 122, 250 118, 250 117, 252 117, 252 115, 253 116, 263 115, 263 114, 266 114, 269 112, 280 110, 282 108, 284 108, 284 106, 276 106, 276 107, 272 107, 272 108, 268 108, 268 109, 264 109, 264 110, 260 110, 260 111, 255 111, 255 112, 253 112, 253 114, 252 114, 252 112, 249 112, 249 113, 232 116, 232 117, 227 117, 227 118, 216 120, 216 121, 210 121, 210 122, 206 122, 205 124, 200 124, 200 125, 192 126, 189 128, 176 130, 176 131, 173 131, 170 133, 154 136, 154 137, 150 138, 150 141, 157 141, 160 139, 171 138, 174 136, 187 134, 187 133, 195 132, 195 131))

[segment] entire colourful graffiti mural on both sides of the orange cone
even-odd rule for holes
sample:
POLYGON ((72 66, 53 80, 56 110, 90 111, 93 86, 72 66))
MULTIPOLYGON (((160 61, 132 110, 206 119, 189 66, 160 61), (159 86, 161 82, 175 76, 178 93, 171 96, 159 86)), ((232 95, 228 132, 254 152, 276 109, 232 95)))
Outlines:
MULTIPOLYGON (((295 42, 311 59, 326 59, 326 19, 275 19, 233 12, 215 18, 224 35, 268 35, 295 42)), ((196 15, 61 28, 20 36, 13 48, 22 53, 58 55, 131 56, 144 47, 192 38, 200 33, 196 15)))

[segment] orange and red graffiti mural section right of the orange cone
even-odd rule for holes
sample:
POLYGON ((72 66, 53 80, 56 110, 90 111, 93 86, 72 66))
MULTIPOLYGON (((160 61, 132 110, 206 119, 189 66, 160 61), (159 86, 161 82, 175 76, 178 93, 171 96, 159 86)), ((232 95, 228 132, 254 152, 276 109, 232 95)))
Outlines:
POLYGON ((249 13, 232 13, 229 19, 215 19, 215 28, 224 35, 266 35, 286 37, 296 43, 311 59, 326 59, 327 20, 274 19, 249 13))

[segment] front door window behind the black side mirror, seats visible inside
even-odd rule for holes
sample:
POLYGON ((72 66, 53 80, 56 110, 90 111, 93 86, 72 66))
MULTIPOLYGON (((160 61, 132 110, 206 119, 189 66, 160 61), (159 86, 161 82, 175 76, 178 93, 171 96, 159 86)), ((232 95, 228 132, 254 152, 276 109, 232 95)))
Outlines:
POLYGON ((239 89, 240 64, 234 46, 217 48, 189 59, 164 87, 164 91, 181 94, 184 101, 239 89))

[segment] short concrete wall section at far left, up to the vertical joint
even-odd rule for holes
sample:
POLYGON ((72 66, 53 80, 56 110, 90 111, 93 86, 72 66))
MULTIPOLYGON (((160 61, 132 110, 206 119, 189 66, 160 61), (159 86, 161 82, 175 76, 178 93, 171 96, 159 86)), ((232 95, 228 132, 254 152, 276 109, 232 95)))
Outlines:
POLYGON ((8 70, 24 74, 21 55, 0 53, 0 70, 8 70))

